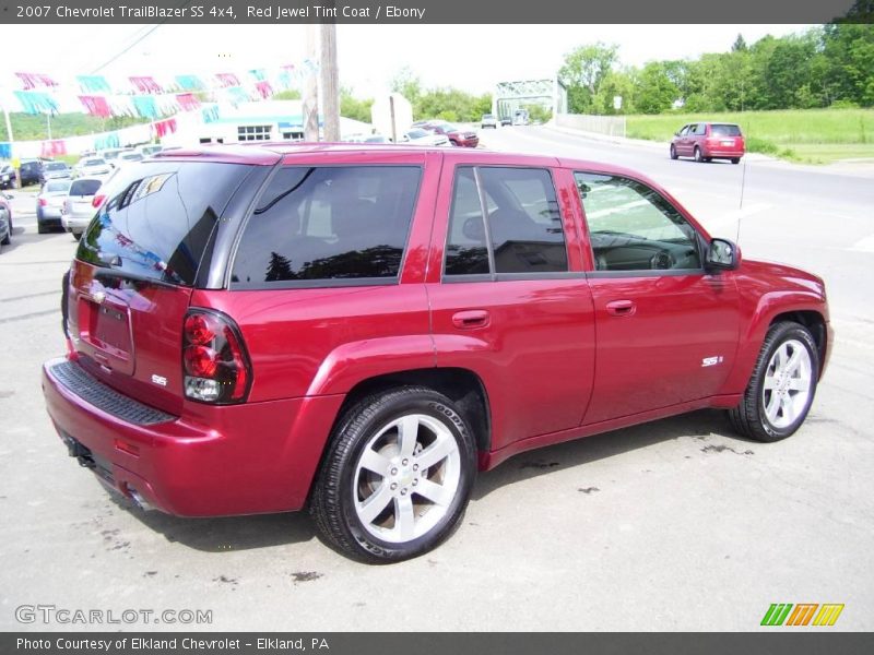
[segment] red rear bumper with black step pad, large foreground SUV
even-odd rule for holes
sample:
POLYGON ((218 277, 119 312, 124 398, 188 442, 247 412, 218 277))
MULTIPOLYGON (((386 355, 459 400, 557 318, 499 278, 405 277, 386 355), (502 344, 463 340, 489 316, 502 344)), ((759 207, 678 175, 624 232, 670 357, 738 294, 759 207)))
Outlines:
POLYGON ((343 401, 187 403, 175 417, 83 374, 67 359, 43 366, 46 407, 59 436, 93 453, 102 463, 95 473, 116 491, 178 516, 302 509, 343 401))

